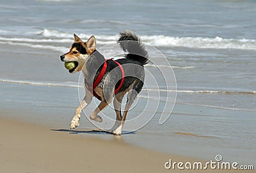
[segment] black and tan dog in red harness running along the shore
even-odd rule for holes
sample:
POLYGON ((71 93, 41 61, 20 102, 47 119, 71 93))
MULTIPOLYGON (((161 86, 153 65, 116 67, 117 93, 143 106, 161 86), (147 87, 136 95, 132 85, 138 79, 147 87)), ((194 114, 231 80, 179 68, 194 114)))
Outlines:
POLYGON ((145 44, 132 31, 127 30, 120 33, 117 43, 126 52, 124 58, 116 61, 106 60, 96 50, 95 36, 91 36, 88 41, 84 42, 74 34, 74 43, 72 43, 70 51, 60 56, 61 61, 74 62, 75 66, 69 70, 70 73, 83 71, 84 74, 85 96, 81 105, 76 109, 70 129, 79 126, 81 110, 91 103, 93 96, 97 96, 101 102, 97 109, 90 114, 90 119, 102 122, 102 118, 97 114, 113 102, 116 122, 109 131, 113 135, 122 134, 127 112, 143 87, 145 79, 143 65, 147 64, 149 59, 145 44), (102 72, 103 68, 104 72, 102 72), (99 75, 101 75, 101 79, 99 79, 99 75), (95 84, 96 80, 99 80, 97 84, 95 84), (94 84, 96 86, 93 87, 94 84), (126 93, 127 102, 122 115, 121 103, 126 93))

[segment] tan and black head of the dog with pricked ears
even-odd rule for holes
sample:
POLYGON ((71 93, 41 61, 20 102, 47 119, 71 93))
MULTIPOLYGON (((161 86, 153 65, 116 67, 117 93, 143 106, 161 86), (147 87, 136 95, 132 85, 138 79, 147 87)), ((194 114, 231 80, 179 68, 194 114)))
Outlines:
POLYGON ((74 34, 74 38, 69 52, 60 56, 61 61, 75 63, 75 67, 68 70, 70 73, 76 73, 83 69, 84 63, 93 54, 96 46, 94 36, 91 36, 86 42, 83 42, 76 34, 74 34))

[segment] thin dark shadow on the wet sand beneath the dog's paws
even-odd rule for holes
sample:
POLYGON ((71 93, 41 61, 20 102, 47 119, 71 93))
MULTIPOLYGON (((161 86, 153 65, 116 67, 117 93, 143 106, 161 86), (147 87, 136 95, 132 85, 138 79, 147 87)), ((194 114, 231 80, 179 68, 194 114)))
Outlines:
MULTIPOLYGON (((107 130, 100 129, 88 129, 88 130, 70 130, 70 129, 51 129, 56 132, 68 132, 70 134, 79 134, 79 133, 87 133, 87 134, 95 134, 95 135, 113 135, 112 132, 107 130)), ((122 135, 134 134, 135 132, 123 132, 122 135)))

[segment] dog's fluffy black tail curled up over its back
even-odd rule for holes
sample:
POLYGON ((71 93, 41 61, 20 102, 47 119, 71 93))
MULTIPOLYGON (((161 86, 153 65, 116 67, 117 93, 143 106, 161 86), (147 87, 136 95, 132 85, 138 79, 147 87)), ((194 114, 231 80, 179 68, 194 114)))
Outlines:
POLYGON ((148 52, 145 44, 132 31, 126 30, 120 33, 120 38, 117 40, 122 50, 128 52, 125 54, 127 59, 140 62, 142 65, 148 63, 148 52))

